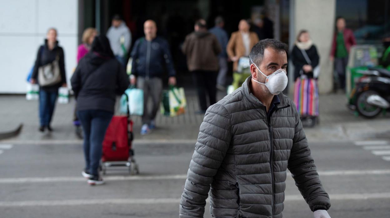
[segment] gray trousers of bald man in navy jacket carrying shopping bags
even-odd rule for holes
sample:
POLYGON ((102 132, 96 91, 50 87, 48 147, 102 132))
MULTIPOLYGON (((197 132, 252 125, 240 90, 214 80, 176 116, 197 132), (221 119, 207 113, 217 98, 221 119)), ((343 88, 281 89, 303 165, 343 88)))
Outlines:
POLYGON ((151 124, 156 118, 160 108, 161 92, 163 90, 163 81, 161 78, 152 77, 146 79, 144 77, 137 78, 137 87, 144 90, 144 115, 142 115, 142 124, 151 124), (152 98, 152 110, 148 108, 149 96, 152 98))

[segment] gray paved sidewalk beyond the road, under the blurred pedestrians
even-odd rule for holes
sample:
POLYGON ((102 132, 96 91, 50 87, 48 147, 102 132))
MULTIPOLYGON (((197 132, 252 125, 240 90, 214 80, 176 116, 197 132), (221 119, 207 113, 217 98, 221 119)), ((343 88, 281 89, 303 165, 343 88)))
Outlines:
MULTIPOLYGON (((218 93, 218 98, 224 96, 218 93)), ((165 117, 158 115, 156 126, 151 134, 141 136, 140 117, 132 117, 134 121, 135 140, 146 142, 159 141, 191 141, 195 142, 203 115, 197 115, 199 110, 195 90, 186 89, 187 108, 184 115, 177 117, 165 117)), ((74 134, 72 124, 74 99, 67 105, 57 104, 52 122, 52 133, 38 132, 38 102, 26 101, 25 96, 0 96, 2 102, 0 110, 0 133, 16 129, 23 123, 21 133, 3 142, 53 142, 68 141, 81 143, 74 134)), ((118 109, 118 106, 116 106, 118 109)), ((346 97, 342 94, 330 94, 320 96, 320 121, 314 128, 305 128, 307 138, 311 142, 368 140, 375 138, 390 138, 390 115, 380 115, 376 119, 368 120, 356 117, 346 108, 346 97)))

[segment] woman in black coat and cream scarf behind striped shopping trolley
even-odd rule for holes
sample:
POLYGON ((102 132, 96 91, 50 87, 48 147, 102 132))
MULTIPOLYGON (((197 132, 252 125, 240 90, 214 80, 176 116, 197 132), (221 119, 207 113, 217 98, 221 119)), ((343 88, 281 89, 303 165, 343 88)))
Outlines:
POLYGON ((313 71, 319 64, 319 56, 307 30, 299 32, 290 57, 294 64, 294 81, 302 75, 306 75, 308 78, 317 78, 318 75, 314 75, 313 71), (311 63, 306 60, 304 52, 311 63))

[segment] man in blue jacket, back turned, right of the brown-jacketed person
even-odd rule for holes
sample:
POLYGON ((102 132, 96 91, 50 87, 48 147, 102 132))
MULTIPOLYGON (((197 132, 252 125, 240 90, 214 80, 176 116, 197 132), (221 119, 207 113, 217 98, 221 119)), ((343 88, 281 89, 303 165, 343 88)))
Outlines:
POLYGON ((217 78, 217 89, 221 91, 225 90, 226 74, 228 71, 226 46, 229 42, 229 37, 227 36, 226 31, 223 30, 224 25, 225 22, 223 21, 223 18, 221 16, 218 16, 215 18, 215 27, 209 30, 209 32, 211 32, 217 37, 218 42, 220 43, 222 48, 222 52, 218 55, 220 69, 217 78))

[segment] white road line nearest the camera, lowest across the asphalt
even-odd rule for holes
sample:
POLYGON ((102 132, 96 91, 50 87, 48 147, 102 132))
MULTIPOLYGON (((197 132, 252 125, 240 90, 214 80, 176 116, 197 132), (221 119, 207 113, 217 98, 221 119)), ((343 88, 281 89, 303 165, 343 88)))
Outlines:
MULTIPOLYGON (((330 194, 332 200, 390 199, 390 192, 384 193, 346 193, 330 194)), ((207 199, 207 202, 209 199, 207 199)), ((285 201, 304 201, 302 195, 286 195, 285 201)), ((37 207, 37 206, 80 206, 113 204, 179 204, 180 198, 148 199, 77 199, 77 200, 26 200, 0 201, 0 207, 37 207)))

